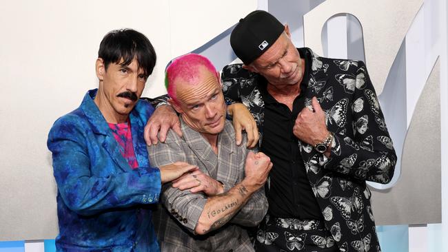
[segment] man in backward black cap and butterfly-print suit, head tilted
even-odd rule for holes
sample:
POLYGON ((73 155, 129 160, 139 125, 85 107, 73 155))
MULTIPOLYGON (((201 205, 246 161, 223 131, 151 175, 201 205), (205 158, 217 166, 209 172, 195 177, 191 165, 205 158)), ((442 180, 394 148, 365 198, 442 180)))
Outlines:
POLYGON ((230 43, 243 64, 223 69, 226 101, 250 109, 274 164, 256 251, 380 251, 365 181, 389 182, 396 154, 365 64, 295 48, 262 10, 230 43))

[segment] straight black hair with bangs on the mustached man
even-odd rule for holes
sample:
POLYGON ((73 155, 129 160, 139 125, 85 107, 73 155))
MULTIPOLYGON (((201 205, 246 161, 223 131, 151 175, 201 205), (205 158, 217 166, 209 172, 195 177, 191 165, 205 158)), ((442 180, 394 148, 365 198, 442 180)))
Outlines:
POLYGON ((156 65, 156 52, 149 39, 132 29, 112 30, 105 34, 99 45, 98 57, 103 59, 105 69, 110 63, 130 65, 136 59, 139 69, 150 76, 156 65))

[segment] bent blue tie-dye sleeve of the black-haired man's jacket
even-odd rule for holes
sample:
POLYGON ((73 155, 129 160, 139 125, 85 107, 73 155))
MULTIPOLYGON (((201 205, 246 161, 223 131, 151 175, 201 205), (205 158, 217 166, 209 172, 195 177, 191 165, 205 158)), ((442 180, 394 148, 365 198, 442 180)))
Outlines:
MULTIPOLYGON (((91 160, 110 157, 101 156, 99 149, 88 151, 88 141, 92 139, 86 137, 85 130, 74 120, 57 120, 47 143, 52 151, 58 191, 69 209, 91 216, 108 209, 159 201, 161 179, 157 168, 139 167, 129 172, 119 172, 117 168, 115 173, 93 175, 91 160)), ((114 162, 105 160, 105 165, 114 162)))

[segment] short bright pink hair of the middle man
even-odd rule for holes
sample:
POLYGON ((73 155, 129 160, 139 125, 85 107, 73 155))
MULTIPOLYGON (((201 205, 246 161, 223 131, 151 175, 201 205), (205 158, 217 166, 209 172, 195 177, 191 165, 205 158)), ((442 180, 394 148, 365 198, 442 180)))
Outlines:
POLYGON ((209 59, 199 54, 185 54, 174 59, 165 70, 165 87, 168 95, 177 103, 176 85, 174 84, 176 78, 181 78, 183 81, 192 85, 198 84, 199 69, 203 66, 212 73, 216 73, 219 78, 216 68, 209 59))

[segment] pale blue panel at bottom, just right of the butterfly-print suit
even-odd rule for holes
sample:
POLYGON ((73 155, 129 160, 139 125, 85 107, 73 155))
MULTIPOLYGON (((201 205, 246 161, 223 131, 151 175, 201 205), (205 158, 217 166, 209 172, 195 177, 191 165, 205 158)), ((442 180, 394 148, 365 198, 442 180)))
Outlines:
POLYGON ((407 225, 376 227, 382 251, 409 252, 409 229, 407 225))

